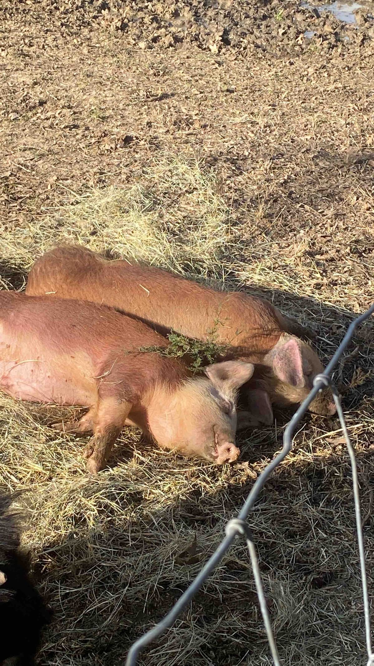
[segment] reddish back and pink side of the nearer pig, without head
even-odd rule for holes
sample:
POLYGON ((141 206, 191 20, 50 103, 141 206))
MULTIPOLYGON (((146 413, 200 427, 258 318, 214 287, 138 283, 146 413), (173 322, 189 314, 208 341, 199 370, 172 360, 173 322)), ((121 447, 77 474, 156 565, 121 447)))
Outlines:
POLYGON ((100 388, 138 399, 157 382, 187 376, 183 362, 152 351, 165 346, 151 328, 106 306, 0 293, 0 386, 15 398, 89 406, 100 388))

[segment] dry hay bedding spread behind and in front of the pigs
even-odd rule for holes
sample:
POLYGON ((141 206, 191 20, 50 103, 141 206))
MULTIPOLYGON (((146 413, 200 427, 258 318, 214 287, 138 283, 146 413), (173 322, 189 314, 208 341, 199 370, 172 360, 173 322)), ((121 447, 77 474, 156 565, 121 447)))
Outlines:
MULTIPOLYGON (((239 263, 242 229, 231 222, 213 174, 198 161, 168 157, 146 170, 141 184, 76 195, 73 204, 30 228, 29 236, 3 234, 3 252, 21 272, 50 244, 69 240, 182 274, 195 270, 195 277, 215 277, 215 284, 225 276, 220 266, 227 266, 231 278, 224 282, 234 286, 235 268, 225 256, 234 258, 240 276, 248 274, 248 265, 239 263), (173 205, 165 206, 166 197, 173 205)), ((297 252, 292 265, 298 266, 297 252)), ((251 278, 252 284, 262 282, 257 268, 251 278)), ((305 316, 303 303, 296 299, 292 314, 305 316)), ((328 320, 331 308, 326 312, 328 320)), ((340 336, 339 329, 331 347, 340 336)), ((331 352, 323 338, 318 342, 331 352)), ((366 360, 368 370, 373 361, 366 360)), ((356 390, 363 384, 365 396, 368 378, 353 366, 345 376, 356 390)), ((352 390, 349 396, 365 514, 371 502, 372 402, 363 397, 358 404, 352 390)), ((81 458, 85 438, 56 435, 48 427, 60 412, 1 398, 1 485, 26 491, 22 504, 31 529, 25 543, 56 613, 42 663, 108 666, 124 659, 130 642, 161 618, 215 549, 225 522, 280 448, 286 415, 275 430, 242 436, 244 464, 220 469, 154 450, 125 430, 110 469, 92 479, 81 458)), ((250 516, 280 652, 285 663, 358 664, 363 625, 351 473, 336 418, 308 417, 296 442, 250 516)), ((248 555, 239 543, 140 663, 240 660, 270 663, 248 555)))

